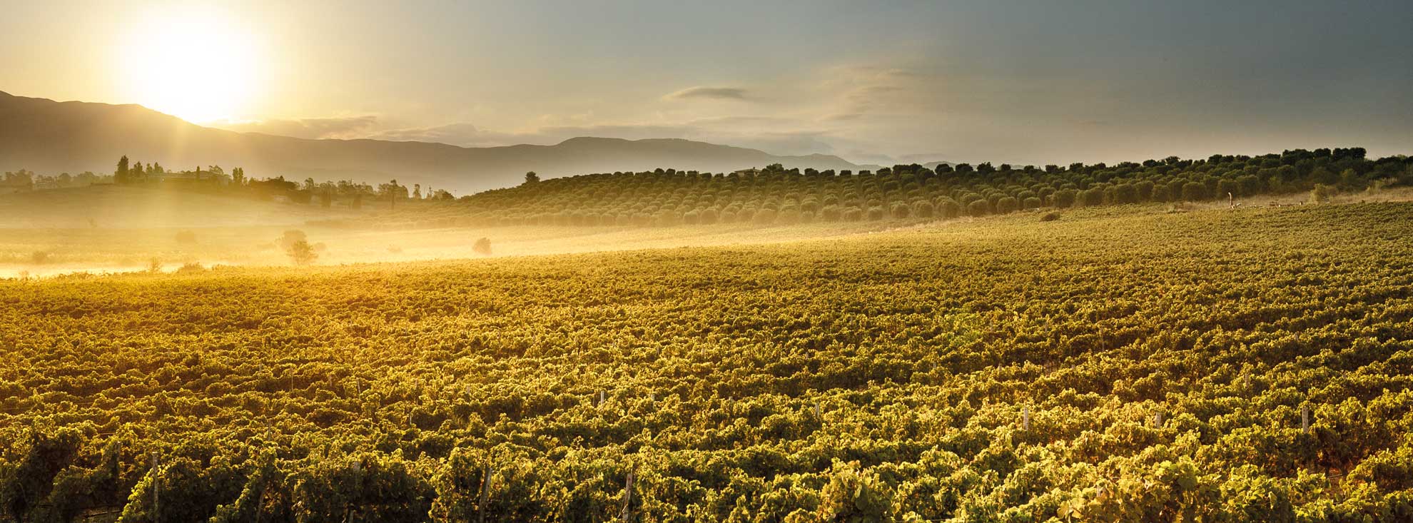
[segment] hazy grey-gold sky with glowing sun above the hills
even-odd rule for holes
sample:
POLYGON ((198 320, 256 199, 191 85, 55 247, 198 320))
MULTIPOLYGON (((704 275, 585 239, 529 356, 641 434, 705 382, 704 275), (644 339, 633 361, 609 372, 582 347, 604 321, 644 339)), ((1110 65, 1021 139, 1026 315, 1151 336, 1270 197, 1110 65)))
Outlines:
POLYGON ((1413 1, 4 0, 0 90, 309 139, 855 163, 1413 153, 1413 1))

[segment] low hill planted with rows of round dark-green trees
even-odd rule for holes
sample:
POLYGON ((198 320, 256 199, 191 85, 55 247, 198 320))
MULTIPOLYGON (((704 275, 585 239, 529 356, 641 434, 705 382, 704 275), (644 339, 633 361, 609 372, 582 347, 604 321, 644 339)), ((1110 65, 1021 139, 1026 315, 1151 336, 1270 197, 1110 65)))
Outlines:
POLYGON ((894 165, 877 172, 786 170, 760 174, 589 174, 540 181, 461 201, 480 225, 796 223, 1009 213, 1142 202, 1188 202, 1358 191, 1413 184, 1406 157, 1365 158, 1364 148, 1290 150, 1205 160, 1060 165, 894 165))

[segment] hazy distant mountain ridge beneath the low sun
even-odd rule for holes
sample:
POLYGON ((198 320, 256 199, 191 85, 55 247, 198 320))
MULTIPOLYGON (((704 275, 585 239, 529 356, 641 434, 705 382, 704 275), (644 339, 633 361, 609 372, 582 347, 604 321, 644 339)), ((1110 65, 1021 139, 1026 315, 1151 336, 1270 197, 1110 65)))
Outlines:
POLYGON ((138 105, 55 102, 0 92, 0 170, 112 172, 124 154, 168 170, 239 165, 261 178, 397 178, 462 194, 516 185, 526 171, 548 178, 658 167, 722 172, 776 163, 817 170, 870 168, 835 155, 776 155, 680 139, 578 137, 554 146, 504 147, 308 140, 202 127, 138 105))

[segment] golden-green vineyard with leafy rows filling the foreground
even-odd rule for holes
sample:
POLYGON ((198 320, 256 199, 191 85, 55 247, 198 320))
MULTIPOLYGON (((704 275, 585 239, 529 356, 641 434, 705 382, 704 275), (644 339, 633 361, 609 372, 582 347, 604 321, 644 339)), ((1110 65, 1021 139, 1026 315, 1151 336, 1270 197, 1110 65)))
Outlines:
POLYGON ((1413 204, 1065 208, 0 280, 0 520, 1413 520, 1413 204))

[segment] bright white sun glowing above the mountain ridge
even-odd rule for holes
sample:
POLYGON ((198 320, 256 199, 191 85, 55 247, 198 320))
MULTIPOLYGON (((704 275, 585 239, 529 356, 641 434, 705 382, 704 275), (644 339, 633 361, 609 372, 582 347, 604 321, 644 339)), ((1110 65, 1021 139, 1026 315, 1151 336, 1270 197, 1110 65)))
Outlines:
POLYGON ((260 85, 257 41, 218 11, 154 13, 119 45, 129 100, 188 122, 243 116, 260 85))

